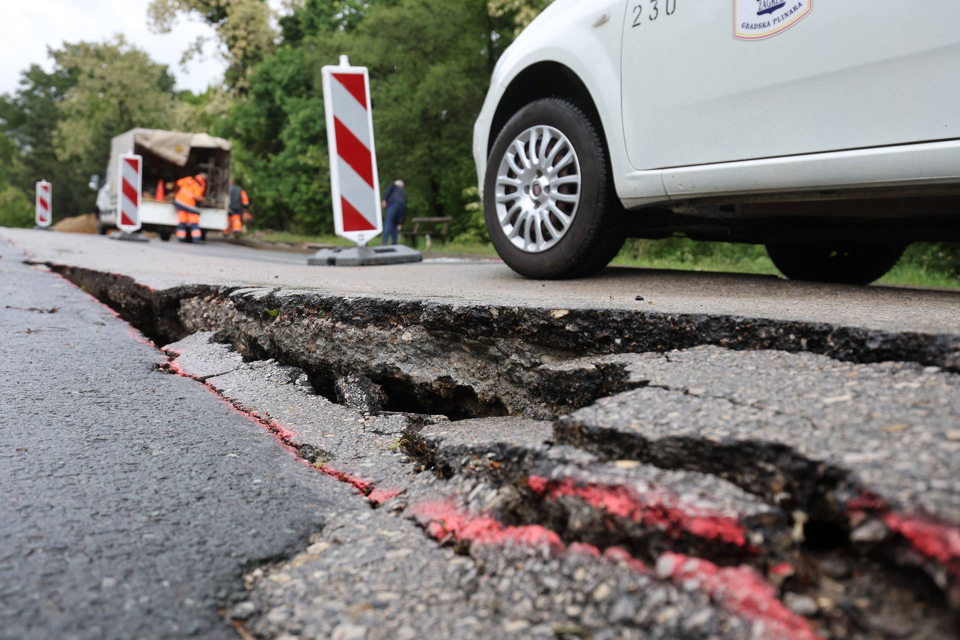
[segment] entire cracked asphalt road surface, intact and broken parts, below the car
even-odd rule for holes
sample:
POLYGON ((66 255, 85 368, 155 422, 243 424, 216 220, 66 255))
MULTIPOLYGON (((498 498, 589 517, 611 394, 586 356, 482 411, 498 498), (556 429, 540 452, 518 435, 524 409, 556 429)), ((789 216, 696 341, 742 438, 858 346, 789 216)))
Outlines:
POLYGON ((20 543, 0 547, 0 580, 26 574, 30 594, 0 587, 0 636, 216 636, 231 605, 245 638, 284 640, 956 636, 954 294, 636 270, 544 285, 496 264, 331 272, 228 246, 13 234, 174 343, 162 367, 179 375, 64 280, 0 262, 0 355, 60 357, 51 380, 5 373, 30 392, 0 407, 28 416, 0 434, 27 443, 0 448, 15 462, 0 480, 39 498, 14 488, 0 510, 20 543), (624 282, 673 311, 636 313, 612 295, 624 282), (127 379, 151 394, 117 392, 127 379), (37 448, 51 471, 36 474, 37 448), (157 605, 156 578, 180 573, 157 605), (111 599, 124 583, 136 592, 111 599), (79 626, 57 614, 84 604, 79 626))

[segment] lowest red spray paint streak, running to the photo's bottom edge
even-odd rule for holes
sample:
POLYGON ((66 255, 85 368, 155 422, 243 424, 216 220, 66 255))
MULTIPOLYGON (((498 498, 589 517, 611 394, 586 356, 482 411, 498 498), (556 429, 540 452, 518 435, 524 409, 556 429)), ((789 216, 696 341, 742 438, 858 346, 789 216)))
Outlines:
POLYGON ((703 591, 714 603, 741 618, 762 623, 766 637, 821 640, 805 618, 777 599, 774 586, 752 567, 721 568, 699 557, 666 553, 657 560, 657 575, 687 590, 703 591))

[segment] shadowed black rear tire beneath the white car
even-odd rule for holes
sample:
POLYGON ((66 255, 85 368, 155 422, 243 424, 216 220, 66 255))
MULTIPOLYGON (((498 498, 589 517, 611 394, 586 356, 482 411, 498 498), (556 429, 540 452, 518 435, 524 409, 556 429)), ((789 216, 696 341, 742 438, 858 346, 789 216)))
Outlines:
POLYGON ((791 280, 870 284, 894 268, 905 245, 848 244, 767 245, 767 254, 780 273, 791 280))

